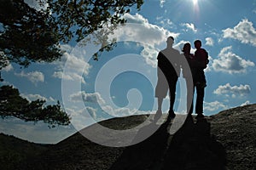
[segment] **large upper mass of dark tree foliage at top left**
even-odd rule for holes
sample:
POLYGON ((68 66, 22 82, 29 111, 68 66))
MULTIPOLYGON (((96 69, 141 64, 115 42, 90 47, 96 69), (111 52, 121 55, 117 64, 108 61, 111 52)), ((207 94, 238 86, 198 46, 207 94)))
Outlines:
MULTIPOLYGON (((35 9, 24 0, 0 0, 0 71, 9 62, 28 66, 61 58, 61 42, 78 42, 94 31, 96 43, 104 43, 116 25, 125 23, 122 15, 143 0, 38 0, 47 8, 35 9), (107 26, 107 27, 106 27, 107 26), (109 30, 109 31, 108 31, 109 30), (103 37, 103 38, 102 38, 103 37)), ((113 42, 102 45, 111 50, 113 42)), ((97 55, 94 56, 97 59, 97 55)))

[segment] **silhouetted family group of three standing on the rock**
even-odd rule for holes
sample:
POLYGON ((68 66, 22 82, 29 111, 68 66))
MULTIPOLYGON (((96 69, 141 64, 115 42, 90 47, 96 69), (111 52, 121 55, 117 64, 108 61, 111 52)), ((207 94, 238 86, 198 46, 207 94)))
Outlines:
POLYGON ((158 81, 155 87, 155 97, 158 99, 158 109, 154 119, 157 120, 162 115, 162 103, 168 90, 170 97, 168 117, 173 118, 176 116, 173 105, 176 97, 177 79, 180 77, 181 70, 187 86, 187 113, 189 115, 193 113, 193 99, 196 90, 195 114, 197 116, 195 118, 202 118, 204 117, 203 100, 205 88, 207 87, 204 70, 209 63, 207 50, 201 48, 200 40, 195 40, 194 42, 195 54, 190 53, 191 44, 189 42, 183 45, 183 54, 180 54, 177 49, 172 47, 174 43, 173 37, 168 37, 166 43, 166 48, 161 50, 157 56, 158 81), (187 63, 184 63, 182 58, 185 58, 187 63), (189 65, 189 69, 185 68, 185 65, 189 65))

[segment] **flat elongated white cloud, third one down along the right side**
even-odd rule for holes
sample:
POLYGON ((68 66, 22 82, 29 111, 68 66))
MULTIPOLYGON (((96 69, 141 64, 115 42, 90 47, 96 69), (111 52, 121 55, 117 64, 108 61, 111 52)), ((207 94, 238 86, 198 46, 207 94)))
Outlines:
POLYGON ((240 84, 239 86, 231 86, 230 83, 227 83, 225 85, 220 85, 218 86, 217 89, 213 91, 213 94, 226 95, 226 96, 231 95, 233 98, 236 97, 236 94, 238 94, 239 96, 244 96, 250 93, 251 93, 251 87, 249 85, 240 84))

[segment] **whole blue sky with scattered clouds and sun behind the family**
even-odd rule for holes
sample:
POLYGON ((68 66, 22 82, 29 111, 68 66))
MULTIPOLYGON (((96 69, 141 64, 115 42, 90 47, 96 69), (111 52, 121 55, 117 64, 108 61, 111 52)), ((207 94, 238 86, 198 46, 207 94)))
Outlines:
MULTIPOLYGON (((27 3, 35 5, 32 0, 27 3)), ((38 143, 56 143, 94 122, 114 116, 154 113, 156 56, 175 37, 175 48, 201 39, 210 63, 206 70, 205 115, 255 103, 255 0, 148 0, 140 11, 125 14, 127 25, 114 31, 117 47, 91 55, 99 46, 62 44, 59 61, 32 64, 26 69, 10 64, 3 84, 19 88, 27 99, 60 100, 72 116, 72 126, 49 129, 44 123, 1 120, 0 132, 38 143)), ((193 45, 192 45, 193 47, 193 45)), ((195 51, 194 47, 192 53, 195 51)), ((185 111, 183 78, 177 83, 175 110, 185 111)), ((168 99, 163 106, 168 109, 168 99)))

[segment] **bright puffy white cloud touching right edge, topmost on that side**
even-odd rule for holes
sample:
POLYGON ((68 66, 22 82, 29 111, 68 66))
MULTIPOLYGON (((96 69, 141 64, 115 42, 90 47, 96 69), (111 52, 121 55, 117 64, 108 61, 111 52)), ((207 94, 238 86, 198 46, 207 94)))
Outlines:
POLYGON ((234 28, 223 30, 223 33, 224 38, 232 38, 256 46, 256 30, 253 23, 247 19, 241 20, 234 28))

